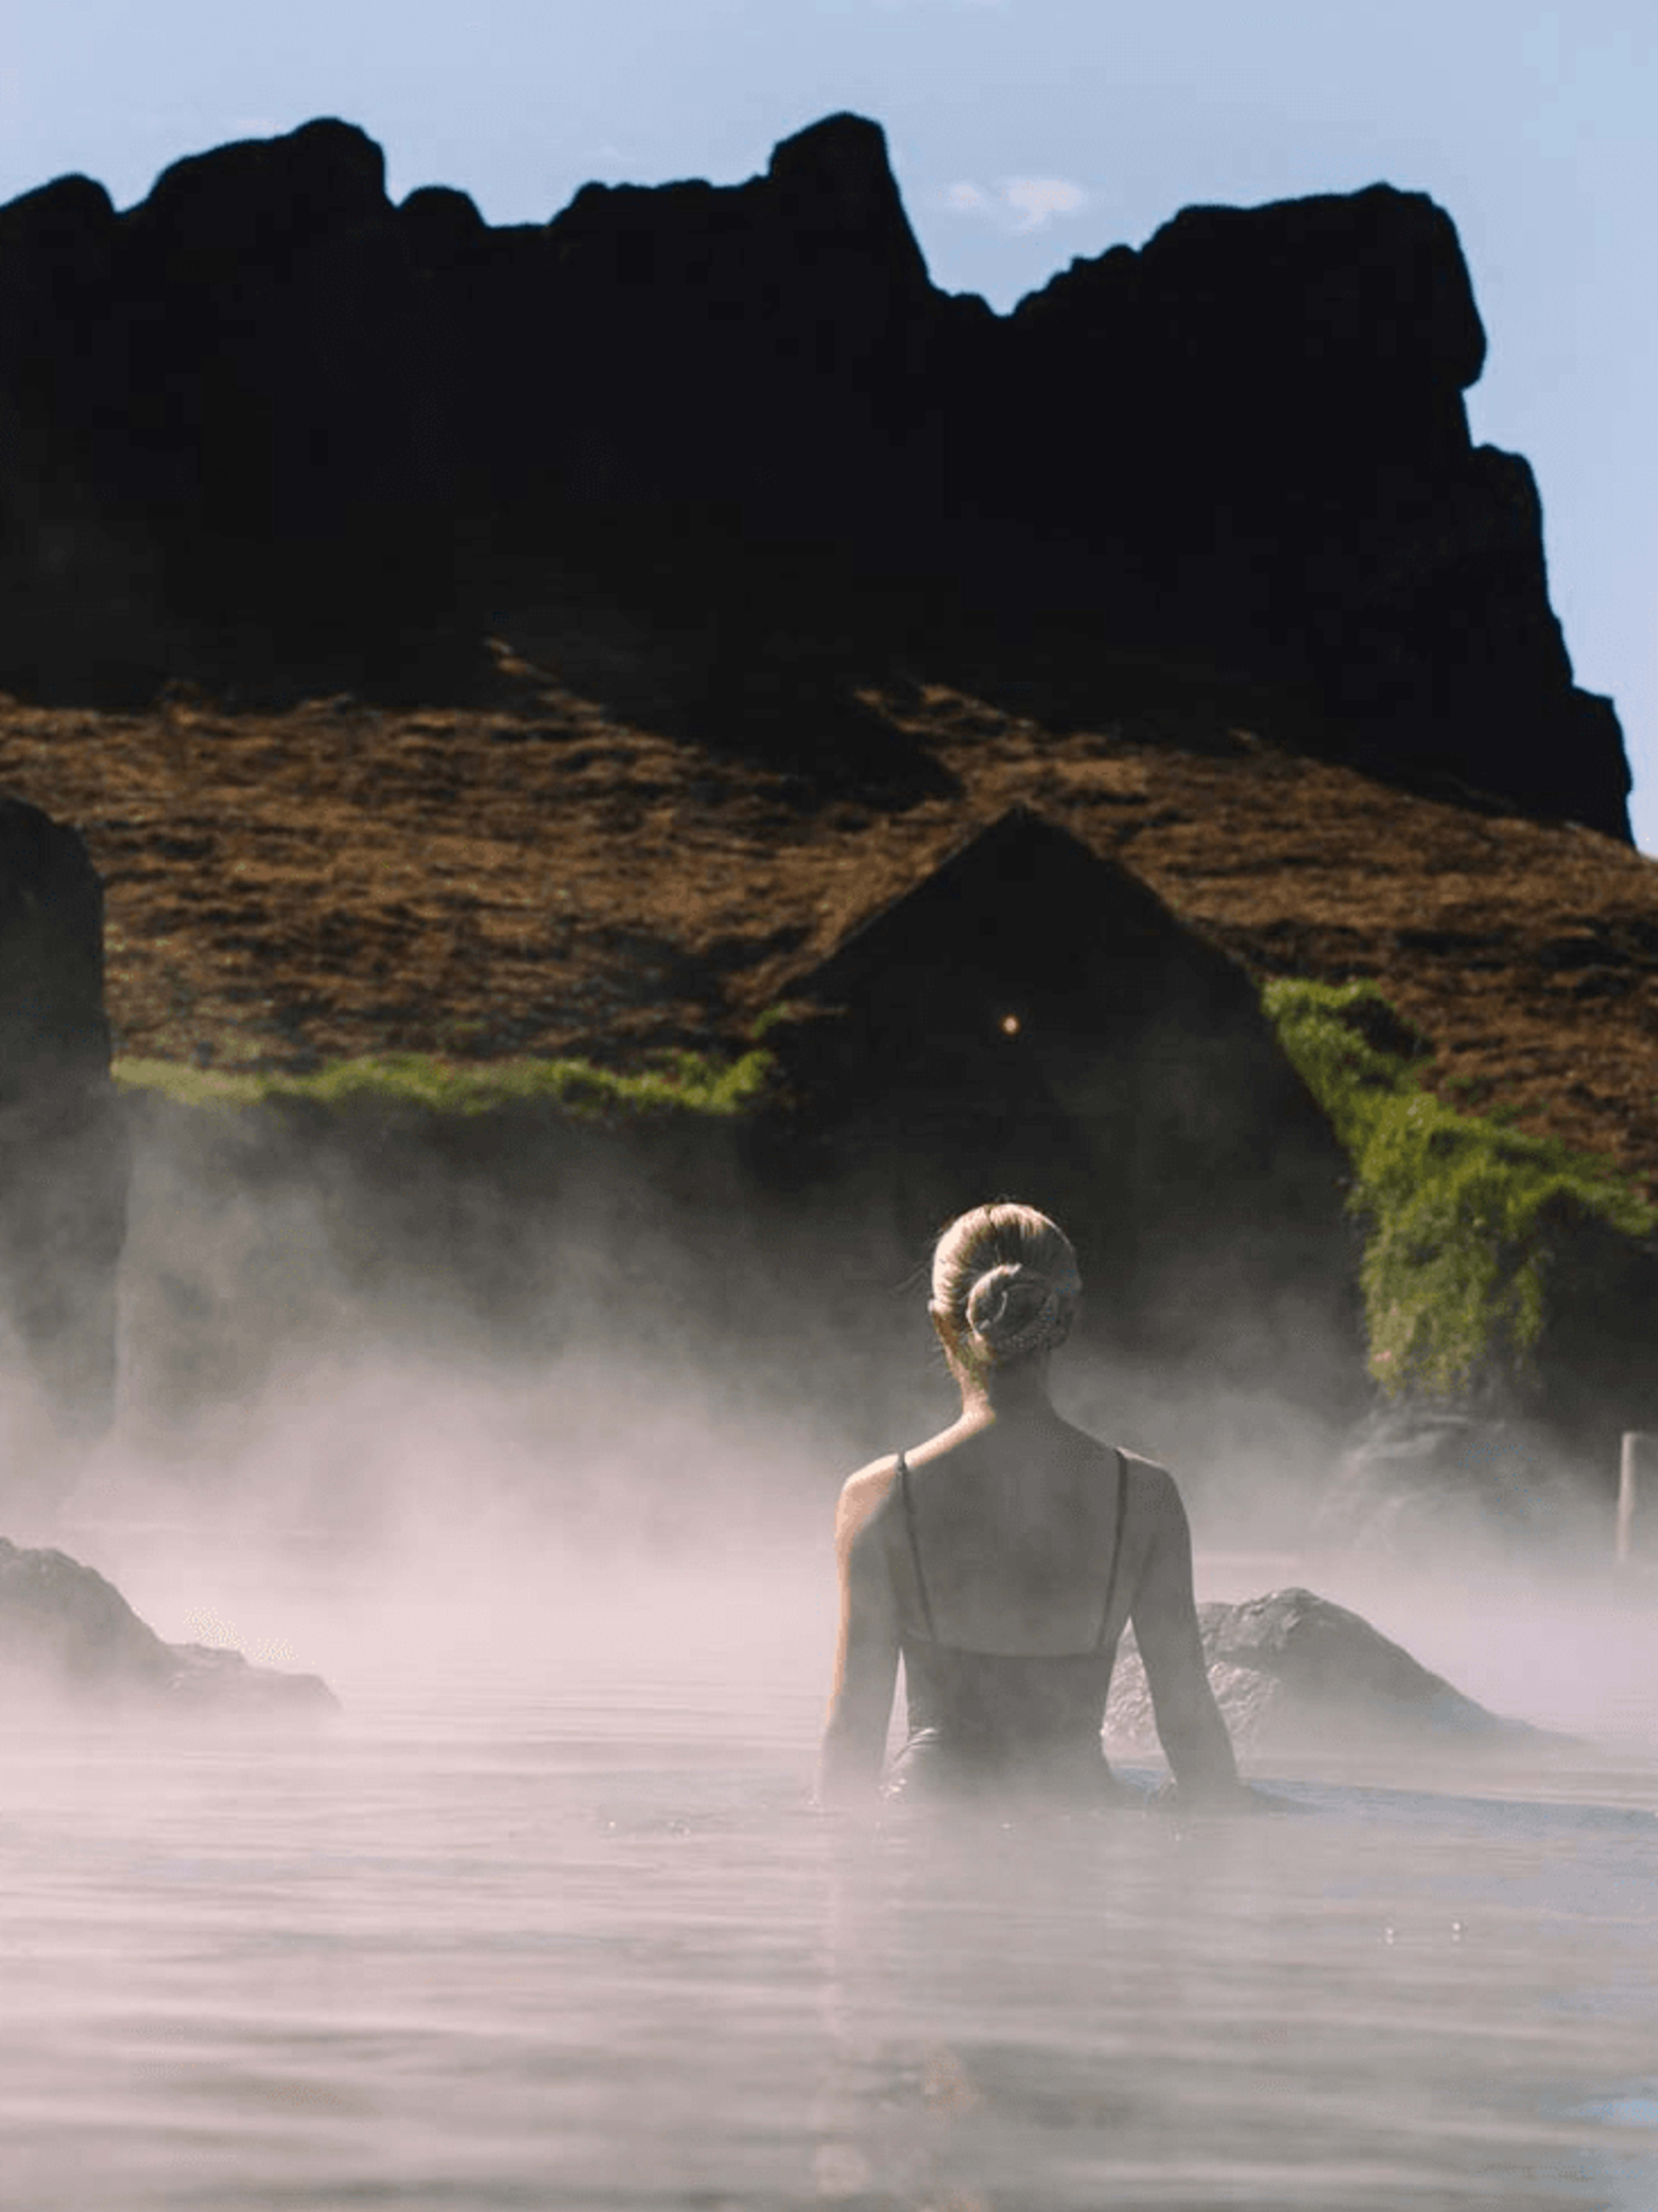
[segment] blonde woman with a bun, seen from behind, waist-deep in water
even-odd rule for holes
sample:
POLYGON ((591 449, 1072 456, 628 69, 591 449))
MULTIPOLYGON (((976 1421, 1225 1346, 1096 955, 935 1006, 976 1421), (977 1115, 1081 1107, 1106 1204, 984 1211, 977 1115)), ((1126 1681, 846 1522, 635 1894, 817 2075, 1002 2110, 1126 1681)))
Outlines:
POLYGON ((928 1310, 962 1418, 840 1493, 827 1805, 880 1783, 900 1655, 909 1741, 889 1790, 1110 1798, 1099 1739, 1127 1621, 1180 1796, 1245 1796, 1203 1663, 1180 1493, 1048 1398, 1079 1292, 1070 1239, 1030 1206, 979 1206, 937 1241, 928 1310))

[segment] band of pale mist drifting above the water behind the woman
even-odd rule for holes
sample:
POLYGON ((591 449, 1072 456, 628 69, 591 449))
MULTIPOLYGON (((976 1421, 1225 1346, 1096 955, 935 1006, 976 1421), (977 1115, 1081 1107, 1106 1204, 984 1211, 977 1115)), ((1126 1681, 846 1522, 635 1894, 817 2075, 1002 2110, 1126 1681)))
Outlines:
MULTIPOLYGON (((672 1674, 767 1728, 780 1701, 805 1787, 838 1486, 955 1413, 926 1252, 688 1208, 619 1148, 535 1208, 391 1155, 365 1177, 338 1144, 139 1124, 117 1418, 53 1451, 11 1391, 13 1542, 95 1566, 170 1641, 323 1672, 347 1714, 358 1683, 482 1677, 672 1674)), ((1068 1418, 1176 1473, 1198 1599, 1302 1584, 1505 1717, 1649 1745, 1607 1471, 1554 1469, 1541 1537, 1479 1498, 1415 1540, 1331 1526, 1351 1438, 1225 1365, 1088 1336, 1054 1365, 1068 1418)))

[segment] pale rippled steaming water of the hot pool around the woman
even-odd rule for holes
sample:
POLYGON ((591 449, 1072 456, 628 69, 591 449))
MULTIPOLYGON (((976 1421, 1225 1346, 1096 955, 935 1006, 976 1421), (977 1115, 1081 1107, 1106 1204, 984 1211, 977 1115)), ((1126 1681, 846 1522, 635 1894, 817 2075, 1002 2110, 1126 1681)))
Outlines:
MULTIPOLYGON (((367 1433, 327 1411, 312 1458, 367 1433)), ((1258 1770, 1300 1816, 849 1836, 807 1805, 840 1469, 760 1522, 725 1453, 747 1520, 699 1524, 668 1429, 634 1493, 612 1433, 599 1498, 531 1513, 475 1413, 382 1420, 405 1478, 449 1453, 402 1515, 111 1462, 29 1531, 343 1712, 7 1719, 7 2212, 1658 2203, 1638 1588, 1318 1577, 1585 1734, 1530 1770, 1331 1745, 1258 1770)))

